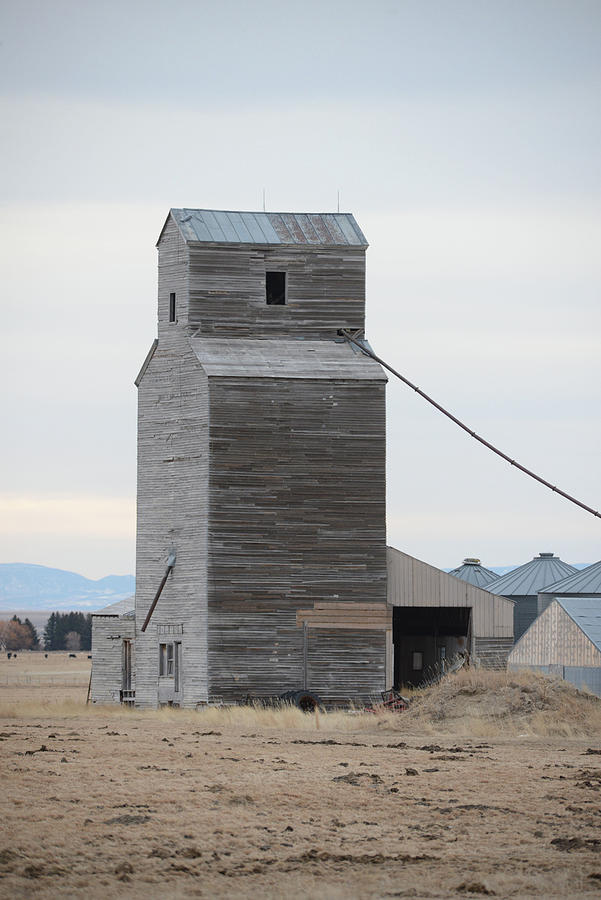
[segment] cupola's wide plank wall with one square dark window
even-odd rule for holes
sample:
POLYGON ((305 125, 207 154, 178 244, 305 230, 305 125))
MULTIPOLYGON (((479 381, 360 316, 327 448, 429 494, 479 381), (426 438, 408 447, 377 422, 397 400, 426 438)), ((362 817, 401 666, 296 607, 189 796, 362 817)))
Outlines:
POLYGON ((188 322, 203 337, 333 338, 365 327, 365 249, 192 245, 188 322), (265 272, 286 272, 286 304, 265 302, 265 272))

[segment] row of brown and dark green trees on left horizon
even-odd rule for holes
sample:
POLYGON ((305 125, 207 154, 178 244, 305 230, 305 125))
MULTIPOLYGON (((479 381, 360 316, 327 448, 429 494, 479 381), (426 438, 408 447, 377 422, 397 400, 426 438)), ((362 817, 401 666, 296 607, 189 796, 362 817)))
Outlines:
MULTIPOLYGON (((55 612, 50 615, 43 636, 44 650, 91 650, 92 616, 82 612, 55 612)), ((0 649, 39 650, 40 639, 34 625, 13 616, 0 621, 0 649)))

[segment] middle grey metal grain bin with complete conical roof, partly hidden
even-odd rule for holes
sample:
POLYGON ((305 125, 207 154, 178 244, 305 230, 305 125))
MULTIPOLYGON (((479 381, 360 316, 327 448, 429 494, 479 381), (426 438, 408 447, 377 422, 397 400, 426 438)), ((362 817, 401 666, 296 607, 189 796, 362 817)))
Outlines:
POLYGON ((536 619, 538 592, 574 572, 574 566, 564 563, 553 553, 539 553, 530 562, 495 581, 495 593, 515 601, 513 633, 516 641, 536 619))

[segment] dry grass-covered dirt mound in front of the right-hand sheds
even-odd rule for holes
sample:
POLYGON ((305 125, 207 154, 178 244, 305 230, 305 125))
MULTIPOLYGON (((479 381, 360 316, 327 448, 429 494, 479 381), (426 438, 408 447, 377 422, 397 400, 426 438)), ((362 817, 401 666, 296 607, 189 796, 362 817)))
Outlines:
POLYGON ((601 699, 535 672, 470 669, 416 691, 407 724, 463 734, 601 734, 601 699))

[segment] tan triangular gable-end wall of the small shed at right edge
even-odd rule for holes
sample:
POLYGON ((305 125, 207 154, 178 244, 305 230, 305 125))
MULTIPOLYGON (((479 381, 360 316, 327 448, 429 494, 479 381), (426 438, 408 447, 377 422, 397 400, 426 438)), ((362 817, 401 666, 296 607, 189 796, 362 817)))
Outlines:
POLYGON ((554 600, 509 654, 512 666, 601 666, 601 652, 554 600))

